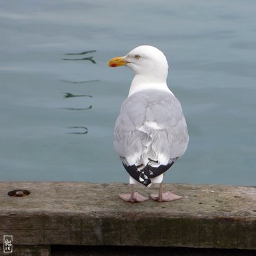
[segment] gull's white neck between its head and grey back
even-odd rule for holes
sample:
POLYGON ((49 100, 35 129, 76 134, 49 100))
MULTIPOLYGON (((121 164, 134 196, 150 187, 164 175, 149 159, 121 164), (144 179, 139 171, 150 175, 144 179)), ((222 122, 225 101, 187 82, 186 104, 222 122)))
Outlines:
POLYGON ((145 89, 156 89, 172 93, 166 84, 166 80, 154 79, 154 77, 145 77, 144 75, 135 75, 131 82, 128 97, 137 91, 145 89))

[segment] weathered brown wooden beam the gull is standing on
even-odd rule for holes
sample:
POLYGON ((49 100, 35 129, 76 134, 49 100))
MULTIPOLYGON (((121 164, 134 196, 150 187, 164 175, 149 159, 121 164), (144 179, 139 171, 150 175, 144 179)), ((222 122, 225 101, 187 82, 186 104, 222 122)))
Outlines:
MULTIPOLYGON (((13 244, 256 249, 256 188, 165 184, 171 203, 127 203, 122 183, 0 183, 0 237, 13 244), (10 190, 29 190, 24 197, 10 190)), ((156 188, 139 187, 141 194, 156 188)))

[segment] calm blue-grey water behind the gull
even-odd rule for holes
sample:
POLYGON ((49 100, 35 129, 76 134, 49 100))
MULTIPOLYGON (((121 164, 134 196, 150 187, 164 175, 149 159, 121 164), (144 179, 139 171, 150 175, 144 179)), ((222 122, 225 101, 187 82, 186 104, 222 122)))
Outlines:
POLYGON ((133 73, 107 61, 151 44, 167 56, 190 132, 165 181, 255 185, 255 10, 249 0, 1 0, 1 181, 127 182, 112 133, 133 73), (96 64, 63 60, 84 57, 96 64))

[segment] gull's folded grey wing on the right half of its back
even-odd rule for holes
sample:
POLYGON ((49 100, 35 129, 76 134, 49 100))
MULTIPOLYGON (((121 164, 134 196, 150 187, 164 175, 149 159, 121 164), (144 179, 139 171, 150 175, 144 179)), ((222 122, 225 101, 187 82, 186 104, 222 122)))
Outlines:
POLYGON ((179 100, 168 95, 148 112, 149 125, 146 123, 145 126, 149 127, 152 149, 158 162, 167 164, 170 158, 182 156, 188 147, 188 128, 179 100), (155 123, 158 127, 154 127, 155 123))

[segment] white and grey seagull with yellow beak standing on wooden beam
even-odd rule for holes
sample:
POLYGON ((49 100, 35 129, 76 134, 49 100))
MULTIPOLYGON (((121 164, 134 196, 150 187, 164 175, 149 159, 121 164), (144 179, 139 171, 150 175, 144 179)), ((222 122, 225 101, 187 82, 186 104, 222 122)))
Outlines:
POLYGON ((114 148, 131 184, 131 194, 120 194, 120 198, 131 203, 146 201, 149 197, 136 192, 134 185, 156 183, 159 192, 151 194, 151 199, 182 199, 171 191, 163 192, 163 176, 183 156, 189 140, 181 103, 166 83, 165 55, 154 46, 143 45, 113 57, 108 65, 128 66, 135 73, 113 133, 114 148))

